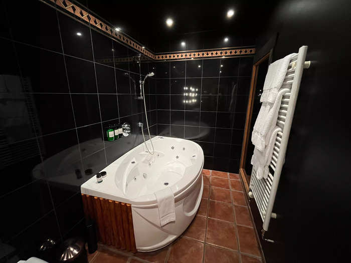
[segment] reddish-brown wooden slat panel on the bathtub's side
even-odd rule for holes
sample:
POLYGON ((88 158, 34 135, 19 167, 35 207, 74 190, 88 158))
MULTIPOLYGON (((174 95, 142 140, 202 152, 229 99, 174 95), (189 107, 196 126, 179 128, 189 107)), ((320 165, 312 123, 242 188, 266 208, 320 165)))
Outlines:
POLYGON ((85 217, 96 222, 98 240, 136 252, 131 205, 82 194, 85 217))

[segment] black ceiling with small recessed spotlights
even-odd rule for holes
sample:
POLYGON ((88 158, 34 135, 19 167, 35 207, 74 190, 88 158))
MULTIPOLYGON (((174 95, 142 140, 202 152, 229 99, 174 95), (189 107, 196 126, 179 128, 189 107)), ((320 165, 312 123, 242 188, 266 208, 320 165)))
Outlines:
POLYGON ((221 3, 127 2, 78 0, 107 22, 155 53, 255 45, 275 1, 224 1, 221 3), (227 11, 235 15, 227 19, 227 11), (165 20, 174 23, 167 28, 165 20), (225 43, 225 37, 229 41, 225 43), (187 43, 186 47, 181 42, 187 43))

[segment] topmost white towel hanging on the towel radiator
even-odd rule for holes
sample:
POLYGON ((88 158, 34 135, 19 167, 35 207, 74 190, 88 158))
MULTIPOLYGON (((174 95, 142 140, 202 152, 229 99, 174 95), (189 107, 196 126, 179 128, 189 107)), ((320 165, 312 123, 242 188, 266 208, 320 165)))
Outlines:
POLYGON ((263 85, 263 92, 261 95, 261 102, 274 103, 278 95, 278 90, 281 88, 286 71, 289 67, 290 60, 296 53, 287 55, 285 58, 277 60, 269 65, 266 79, 263 85))

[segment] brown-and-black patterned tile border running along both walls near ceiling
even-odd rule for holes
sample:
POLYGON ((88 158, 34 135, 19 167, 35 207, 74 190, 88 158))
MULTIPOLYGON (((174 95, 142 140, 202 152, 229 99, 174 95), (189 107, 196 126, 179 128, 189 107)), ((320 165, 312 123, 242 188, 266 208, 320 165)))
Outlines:
MULTIPOLYGON (((95 16, 89 14, 87 11, 81 9, 77 5, 73 4, 68 0, 40 0, 55 8, 63 9, 68 11, 76 19, 84 20, 95 28, 103 31, 105 34, 110 35, 113 39, 118 42, 124 43, 136 51, 144 54, 152 60, 183 60, 183 59, 203 59, 203 58, 216 58, 216 57, 236 57, 253 55, 256 52, 255 48, 238 48, 238 49, 213 49, 213 50, 198 50, 198 51, 187 51, 187 52, 175 52, 175 53, 164 53, 164 54, 153 54, 152 52, 142 48, 135 41, 129 37, 117 32, 106 23, 100 21, 95 16)), ((121 60, 126 60, 123 58, 121 60)))

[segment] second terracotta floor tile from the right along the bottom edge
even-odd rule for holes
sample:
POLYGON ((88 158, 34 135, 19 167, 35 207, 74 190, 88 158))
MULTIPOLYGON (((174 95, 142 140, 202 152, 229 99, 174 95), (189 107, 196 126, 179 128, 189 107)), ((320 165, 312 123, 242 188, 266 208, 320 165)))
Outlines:
POLYGON ((205 263, 239 263, 239 253, 213 245, 205 245, 205 263))

